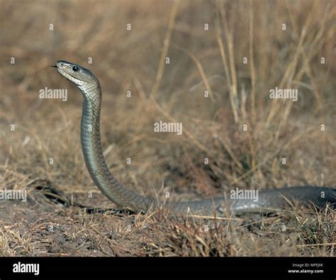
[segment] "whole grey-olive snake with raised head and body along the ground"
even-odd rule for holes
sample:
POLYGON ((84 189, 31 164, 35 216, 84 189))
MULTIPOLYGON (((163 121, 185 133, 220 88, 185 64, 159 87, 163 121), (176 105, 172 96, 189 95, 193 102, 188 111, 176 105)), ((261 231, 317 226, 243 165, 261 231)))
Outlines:
POLYGON ((82 152, 91 179, 103 195, 117 206, 135 212, 146 213, 151 208, 167 208, 169 213, 181 215, 203 215, 222 217, 246 213, 272 213, 293 206, 298 201, 306 206, 312 203, 322 208, 327 203, 334 206, 336 189, 326 186, 286 186, 278 189, 262 189, 257 199, 237 198, 232 192, 223 196, 199 201, 159 201, 136 194, 126 189, 111 174, 103 155, 100 135, 102 91, 99 79, 89 69, 65 60, 57 60, 57 72, 72 82, 82 92, 83 107, 81 121, 82 152))

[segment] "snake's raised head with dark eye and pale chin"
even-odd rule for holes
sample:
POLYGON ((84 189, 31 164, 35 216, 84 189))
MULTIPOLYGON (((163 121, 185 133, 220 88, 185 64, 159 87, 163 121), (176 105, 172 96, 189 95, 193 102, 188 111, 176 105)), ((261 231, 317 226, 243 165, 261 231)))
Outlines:
POLYGON ((63 77, 79 87, 99 84, 98 79, 96 79, 89 69, 72 62, 57 60, 56 65, 53 67, 55 67, 63 77))

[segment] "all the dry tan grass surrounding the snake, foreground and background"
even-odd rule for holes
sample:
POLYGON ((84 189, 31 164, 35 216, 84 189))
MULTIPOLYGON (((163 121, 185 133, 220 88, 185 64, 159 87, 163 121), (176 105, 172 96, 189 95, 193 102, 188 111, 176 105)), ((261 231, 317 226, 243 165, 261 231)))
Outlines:
POLYGON ((62 59, 99 77, 106 160, 133 191, 155 196, 163 186, 186 199, 231 187, 335 186, 335 1, 1 0, 0 6, 0 185, 28 189, 29 196, 26 203, 0 202, 0 254, 335 254, 331 209, 241 220, 91 215, 52 203, 30 184, 40 178, 38 184, 50 181, 80 203, 111 206, 84 165, 82 96, 48 67, 62 59), (46 86, 68 89, 68 101, 39 99, 46 86), (269 99, 276 86, 297 88, 298 102, 269 99), (182 122, 183 134, 154 133, 160 120, 182 122))

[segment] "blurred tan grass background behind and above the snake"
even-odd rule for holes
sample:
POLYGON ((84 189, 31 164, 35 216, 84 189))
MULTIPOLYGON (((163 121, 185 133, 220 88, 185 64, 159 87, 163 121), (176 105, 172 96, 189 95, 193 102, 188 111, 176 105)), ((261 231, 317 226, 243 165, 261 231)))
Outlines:
POLYGON ((56 60, 99 78, 108 166, 141 194, 335 186, 335 4, 1 0, 1 187, 47 178, 96 191, 80 147, 82 94, 56 60), (276 86, 298 89, 298 101, 269 99, 276 86), (67 102, 39 99, 45 87, 68 89, 67 102), (182 122, 182 135, 154 133, 159 121, 182 122))

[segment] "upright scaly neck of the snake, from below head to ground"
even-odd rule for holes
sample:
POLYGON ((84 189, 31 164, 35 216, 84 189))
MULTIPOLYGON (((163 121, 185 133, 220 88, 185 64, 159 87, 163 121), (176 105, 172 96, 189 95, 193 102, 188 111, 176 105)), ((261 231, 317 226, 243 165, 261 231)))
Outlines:
POLYGON ((81 141, 91 178, 101 192, 118 206, 135 211, 146 211, 150 199, 128 191, 109 171, 103 157, 100 135, 101 87, 98 84, 79 86, 84 96, 81 141))

